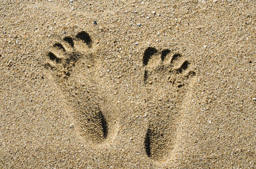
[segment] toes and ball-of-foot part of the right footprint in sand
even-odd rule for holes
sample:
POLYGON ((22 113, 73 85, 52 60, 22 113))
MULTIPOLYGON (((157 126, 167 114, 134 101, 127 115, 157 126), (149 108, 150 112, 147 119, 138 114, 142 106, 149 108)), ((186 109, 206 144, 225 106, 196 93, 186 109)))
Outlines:
POLYGON ((181 54, 170 56, 169 49, 158 51, 149 47, 144 51, 143 65, 145 84, 156 84, 166 81, 175 87, 182 87, 194 76, 193 70, 188 69, 190 62, 185 60, 181 54))

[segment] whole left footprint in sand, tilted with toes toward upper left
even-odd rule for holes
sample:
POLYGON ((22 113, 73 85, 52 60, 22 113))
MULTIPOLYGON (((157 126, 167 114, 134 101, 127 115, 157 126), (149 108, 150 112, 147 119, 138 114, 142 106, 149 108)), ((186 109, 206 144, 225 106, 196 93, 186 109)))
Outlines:
POLYGON ((45 68, 69 101, 78 132, 98 144, 110 134, 105 118, 110 110, 99 94, 92 48, 93 41, 87 32, 64 37, 47 53, 45 68))

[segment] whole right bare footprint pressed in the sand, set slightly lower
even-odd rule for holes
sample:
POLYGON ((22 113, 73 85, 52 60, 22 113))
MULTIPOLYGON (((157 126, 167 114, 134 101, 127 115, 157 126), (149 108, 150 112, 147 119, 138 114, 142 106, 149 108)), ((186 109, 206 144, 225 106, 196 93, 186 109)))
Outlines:
POLYGON ((144 147, 149 158, 161 161, 170 158, 175 146, 182 98, 195 73, 190 61, 170 49, 147 48, 143 65, 144 87, 150 96, 147 111, 154 119, 149 120, 144 147))

